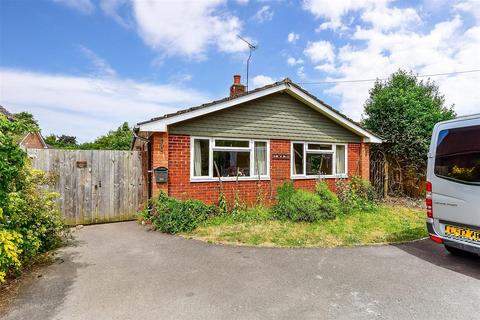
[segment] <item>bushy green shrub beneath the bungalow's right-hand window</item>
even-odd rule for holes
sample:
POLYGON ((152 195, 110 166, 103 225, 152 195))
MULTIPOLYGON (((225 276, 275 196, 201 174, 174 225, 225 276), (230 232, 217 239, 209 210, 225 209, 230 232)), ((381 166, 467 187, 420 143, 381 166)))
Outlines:
POLYGON ((316 222, 334 219, 338 211, 337 203, 326 192, 322 194, 305 190, 294 190, 291 182, 278 188, 278 202, 273 207, 273 217, 280 220, 316 222), (322 198, 323 197, 323 198, 322 198), (329 198, 330 197, 330 198, 329 198))

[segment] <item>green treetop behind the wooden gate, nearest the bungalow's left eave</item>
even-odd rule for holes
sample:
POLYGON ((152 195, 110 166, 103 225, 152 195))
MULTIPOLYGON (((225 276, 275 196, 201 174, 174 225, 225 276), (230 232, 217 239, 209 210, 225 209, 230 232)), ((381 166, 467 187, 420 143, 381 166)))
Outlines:
POLYGON ((117 130, 109 131, 94 142, 80 145, 80 149, 130 150, 132 139, 133 131, 128 123, 124 122, 117 130))

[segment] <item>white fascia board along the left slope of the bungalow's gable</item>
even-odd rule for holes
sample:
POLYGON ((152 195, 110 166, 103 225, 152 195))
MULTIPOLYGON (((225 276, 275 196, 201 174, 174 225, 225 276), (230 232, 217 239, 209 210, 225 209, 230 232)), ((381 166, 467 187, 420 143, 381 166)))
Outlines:
POLYGON ((251 100, 255 100, 255 99, 258 99, 258 98, 261 98, 261 97, 264 97, 264 96, 267 96, 269 94, 276 93, 276 92, 279 92, 279 91, 282 91, 282 90, 285 90, 285 89, 287 89, 287 86, 285 84, 280 84, 278 86, 267 88, 265 90, 261 90, 261 91, 258 91, 258 92, 252 93, 252 94, 248 94, 248 95, 243 96, 243 97, 239 97, 239 98, 236 98, 236 99, 233 99, 233 100, 228 100, 228 101, 225 101, 225 102, 214 104, 214 105, 211 105, 209 107, 199 108, 197 110, 185 112, 185 113, 179 114, 177 116, 172 116, 172 117, 169 117, 169 118, 158 119, 156 121, 144 123, 144 124, 139 125, 138 129, 139 129, 139 131, 166 132, 167 127, 170 124, 174 124, 174 123, 177 123, 177 122, 181 122, 181 121, 193 119, 193 118, 196 118, 196 117, 199 117, 199 116, 203 116, 203 115, 208 114, 208 113, 212 113, 212 112, 220 111, 220 110, 223 110, 223 109, 227 109, 227 108, 230 108, 230 107, 235 106, 237 104, 241 104, 241 103, 245 103, 245 102, 248 102, 248 101, 251 101, 251 100))

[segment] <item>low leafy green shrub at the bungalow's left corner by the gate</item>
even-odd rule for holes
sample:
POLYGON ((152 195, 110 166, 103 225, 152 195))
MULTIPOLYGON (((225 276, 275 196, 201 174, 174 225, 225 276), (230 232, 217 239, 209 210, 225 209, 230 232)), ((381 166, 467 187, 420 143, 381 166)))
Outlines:
POLYGON ((152 215, 156 230, 165 233, 190 232, 212 214, 214 208, 198 200, 177 200, 160 193, 152 215))

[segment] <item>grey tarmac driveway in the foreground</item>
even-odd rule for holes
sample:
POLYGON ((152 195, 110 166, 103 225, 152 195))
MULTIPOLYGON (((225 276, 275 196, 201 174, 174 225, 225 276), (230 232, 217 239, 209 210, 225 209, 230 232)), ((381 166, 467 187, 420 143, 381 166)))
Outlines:
POLYGON ((135 222, 85 227, 76 239, 22 281, 2 319, 472 319, 480 308, 479 259, 429 240, 231 247, 135 222))

